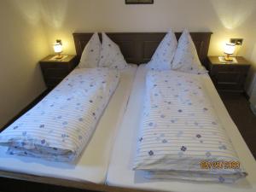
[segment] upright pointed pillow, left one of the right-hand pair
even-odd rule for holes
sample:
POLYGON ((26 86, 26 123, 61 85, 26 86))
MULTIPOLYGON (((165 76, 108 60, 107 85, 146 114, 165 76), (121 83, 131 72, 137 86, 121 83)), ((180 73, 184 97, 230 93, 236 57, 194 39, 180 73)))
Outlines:
POLYGON ((170 70, 176 49, 177 39, 172 30, 170 30, 154 51, 151 61, 148 62, 148 67, 158 70, 170 70))

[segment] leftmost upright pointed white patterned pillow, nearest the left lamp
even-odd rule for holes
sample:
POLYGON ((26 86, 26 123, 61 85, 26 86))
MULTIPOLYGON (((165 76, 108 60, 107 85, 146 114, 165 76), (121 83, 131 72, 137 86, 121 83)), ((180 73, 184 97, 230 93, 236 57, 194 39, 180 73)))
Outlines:
POLYGON ((101 52, 101 41, 98 36, 98 33, 95 32, 83 50, 81 60, 79 63, 79 68, 98 67, 98 63, 100 60, 100 52, 101 52))

